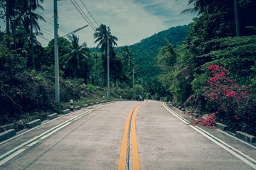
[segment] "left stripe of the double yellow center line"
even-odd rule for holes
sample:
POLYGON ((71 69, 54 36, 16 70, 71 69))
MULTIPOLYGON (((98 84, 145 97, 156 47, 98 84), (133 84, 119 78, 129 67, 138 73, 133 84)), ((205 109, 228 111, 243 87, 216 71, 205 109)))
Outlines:
MULTIPOLYGON (((134 108, 137 106, 141 105, 142 103, 137 104, 132 108, 132 110, 129 112, 127 121, 125 123, 124 127, 124 135, 123 135, 123 140, 122 140, 122 147, 121 147, 121 153, 119 157, 119 166, 118 170, 125 170, 126 166, 126 159, 127 159, 127 138, 128 138, 128 132, 129 132, 129 122, 131 120, 132 112, 134 111, 134 108)), ((135 134, 136 136, 136 134, 135 134)), ((139 157, 138 157, 139 158, 139 157)))

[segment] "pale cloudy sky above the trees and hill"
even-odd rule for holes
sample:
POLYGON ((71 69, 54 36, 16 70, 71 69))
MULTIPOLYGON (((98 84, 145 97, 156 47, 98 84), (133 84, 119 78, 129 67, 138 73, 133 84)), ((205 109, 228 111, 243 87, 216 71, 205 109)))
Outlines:
MULTIPOLYGON (((97 46, 93 34, 95 27, 97 28, 100 23, 110 26, 112 35, 118 38, 117 45, 124 46, 133 45, 162 30, 187 25, 196 17, 195 14, 181 14, 184 9, 193 7, 188 6, 188 0, 61 0, 58 1, 59 36, 88 24, 85 21, 86 16, 83 18, 72 2, 78 4, 82 9, 81 13, 85 13, 90 19, 90 25, 93 25, 75 33, 80 44, 86 42, 87 47, 97 46)), ((45 0, 41 5, 44 11, 37 9, 35 12, 43 14, 46 22, 39 21, 43 38, 38 36, 38 41, 46 47, 54 36, 53 1, 45 0)), ((5 25, 6 23, 0 20, 1 30, 6 29, 5 25)))

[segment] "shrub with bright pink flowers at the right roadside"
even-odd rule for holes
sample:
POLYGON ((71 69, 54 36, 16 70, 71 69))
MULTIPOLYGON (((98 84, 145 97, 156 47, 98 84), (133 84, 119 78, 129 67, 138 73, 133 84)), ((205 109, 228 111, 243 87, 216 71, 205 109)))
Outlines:
MULTIPOLYGON (((225 120, 232 130, 249 129, 251 134, 256 134, 256 100, 250 86, 235 84, 228 77, 228 70, 217 64, 210 65, 208 72, 211 77, 206 80, 203 97, 215 106, 217 118, 225 120)), ((211 123, 210 118, 203 120, 203 125, 211 123)))

